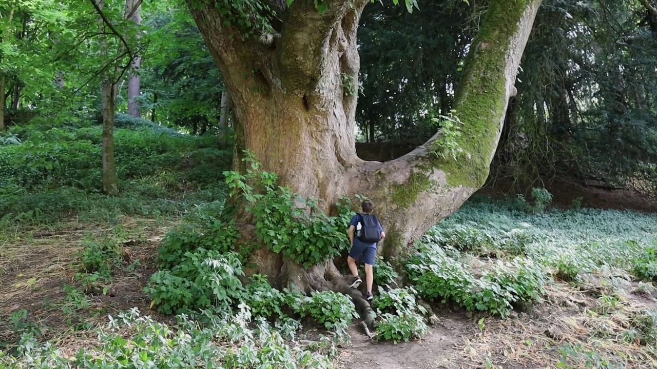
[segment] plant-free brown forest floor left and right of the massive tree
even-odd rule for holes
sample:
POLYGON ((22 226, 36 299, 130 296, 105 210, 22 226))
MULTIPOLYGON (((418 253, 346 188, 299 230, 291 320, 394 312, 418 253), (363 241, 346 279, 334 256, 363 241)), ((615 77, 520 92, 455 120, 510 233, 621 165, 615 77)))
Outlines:
MULTIPOLYGON (((650 210, 646 202, 631 200, 622 204, 623 198, 632 198, 623 194, 611 194, 605 200, 599 190, 583 188, 576 192, 571 188, 570 193, 573 198, 585 196, 583 205, 650 210)), ((559 192, 555 195, 558 198, 559 192)), ((53 340, 62 351, 73 355, 78 347, 97 342, 93 327, 106 322, 108 315, 133 307, 158 321, 171 321, 171 316, 158 315, 150 309, 150 299, 142 289, 155 271, 153 261, 160 240, 175 224, 175 220, 120 219, 122 250, 128 267, 114 276, 105 293, 85 291, 76 278, 78 270, 74 265, 89 234, 100 235, 116 227, 72 220, 47 228, 1 230, 0 350, 3 345, 16 342, 21 332, 30 331, 40 339, 53 340)), ((657 225, 642 232, 657 237, 657 225)), ((558 280, 549 284, 543 303, 526 313, 513 312, 505 319, 435 305, 438 320, 418 341, 378 343, 353 326, 351 343, 341 348, 336 366, 657 368, 657 358, 651 356, 654 351, 646 350, 639 336, 631 336, 632 327, 636 326, 633 319, 655 307, 654 286, 646 287, 614 271, 581 277, 576 284, 558 280), (610 296, 612 300, 604 300, 610 296), (607 311, 600 313, 600 309, 607 311), (624 366, 607 366, 613 362, 610 355, 616 359, 624 357, 624 366), (570 366, 556 366, 562 357, 567 358, 564 362, 570 366)), ((654 326, 646 329, 657 330, 657 315, 652 318, 654 326)))

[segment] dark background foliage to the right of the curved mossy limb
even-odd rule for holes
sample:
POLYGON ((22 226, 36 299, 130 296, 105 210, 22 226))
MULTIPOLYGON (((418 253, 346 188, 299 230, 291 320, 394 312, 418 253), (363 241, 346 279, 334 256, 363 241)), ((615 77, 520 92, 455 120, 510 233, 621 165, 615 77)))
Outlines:
POLYGON ((494 166, 529 183, 556 170, 654 192, 656 51, 641 1, 543 1, 494 166))

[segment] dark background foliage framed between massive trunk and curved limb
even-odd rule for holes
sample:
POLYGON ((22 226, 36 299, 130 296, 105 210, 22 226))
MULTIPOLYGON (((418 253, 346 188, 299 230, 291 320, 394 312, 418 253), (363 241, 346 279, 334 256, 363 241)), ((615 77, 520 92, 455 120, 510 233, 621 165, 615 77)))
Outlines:
POLYGON ((421 11, 373 3, 358 28, 356 121, 367 142, 422 143, 453 105, 461 64, 484 3, 418 1, 421 11))

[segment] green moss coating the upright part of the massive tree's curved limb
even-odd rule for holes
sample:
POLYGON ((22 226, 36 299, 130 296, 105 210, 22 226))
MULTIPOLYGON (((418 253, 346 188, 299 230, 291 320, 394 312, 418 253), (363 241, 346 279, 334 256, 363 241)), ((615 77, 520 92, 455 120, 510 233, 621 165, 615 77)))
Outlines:
POLYGON ((507 54, 531 0, 491 1, 482 28, 466 60, 457 91, 455 115, 463 121, 457 160, 436 157, 433 165, 445 171, 450 186, 479 188, 489 173, 497 135, 507 104, 507 54))

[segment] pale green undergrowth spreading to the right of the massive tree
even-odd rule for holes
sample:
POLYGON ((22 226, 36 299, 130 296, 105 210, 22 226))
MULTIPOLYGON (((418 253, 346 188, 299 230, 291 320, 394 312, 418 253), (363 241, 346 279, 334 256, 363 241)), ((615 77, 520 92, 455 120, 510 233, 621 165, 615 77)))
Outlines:
POLYGON ((432 228, 405 264, 418 295, 468 311, 507 316, 542 301, 547 284, 586 274, 653 282, 657 216, 558 210, 551 194, 526 200, 473 198, 432 228))

